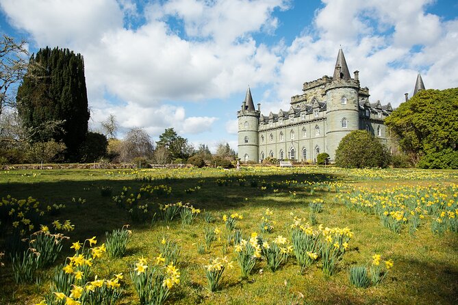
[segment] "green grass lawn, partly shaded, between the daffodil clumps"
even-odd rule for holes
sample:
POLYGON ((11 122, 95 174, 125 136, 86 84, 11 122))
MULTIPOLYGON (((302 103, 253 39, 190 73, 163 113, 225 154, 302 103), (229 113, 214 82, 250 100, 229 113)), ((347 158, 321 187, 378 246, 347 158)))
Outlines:
MULTIPOLYGON (((427 187, 437 183, 457 184, 458 172, 318 167, 243 168, 240 172, 215 169, 10 170, 0 172, 0 197, 10 195, 21 199, 32 196, 42 204, 66 205, 58 215, 45 215, 42 220, 44 224, 51 224, 55 219, 61 222, 71 220, 75 225, 75 230, 67 234, 70 240, 65 241, 64 250, 55 265, 63 263, 66 256, 73 255, 71 242, 97 236, 99 246, 105 232, 130 224, 133 234, 125 256, 108 258, 105 255, 94 264, 99 278, 111 278, 120 272, 125 275, 125 295, 119 304, 138 304, 128 276, 129 266, 141 256, 151 259, 158 256, 158 243, 162 237, 177 241, 181 246, 178 260, 181 284, 173 290, 168 304, 291 304, 291 300, 297 301, 297 304, 456 304, 457 233, 447 230, 442 236, 433 235, 431 217, 427 216, 415 235, 409 235, 405 225, 400 234, 396 234, 381 225, 379 216, 351 211, 342 202, 335 201, 337 190, 359 187, 387 189, 397 185, 427 187), (152 180, 136 181, 136 178, 142 177, 152 177, 152 180), (240 186, 238 178, 246 180, 244 186, 240 186), (227 186, 218 186, 217 179, 225 179, 227 186), (257 187, 250 186, 252 180, 258 181, 257 187), (310 184, 304 184, 304 181, 310 184), (278 184, 263 189, 263 183, 278 184), (142 223, 132 222, 126 209, 117 207, 111 198, 101 195, 101 187, 112 187, 113 196, 118 196, 123 187, 131 187, 131 191, 135 191, 146 184, 167 185, 172 187, 172 192, 169 196, 142 199, 142 203, 149 205, 147 221, 142 223), (200 189, 185 192, 198 185, 200 189), (311 191, 312 188, 314 191, 311 191), (77 204, 73 198, 76 201, 82 198, 86 202, 77 204), (270 216, 276 222, 274 229, 270 234, 263 234, 271 241, 277 235, 289 236, 290 213, 308 221, 308 205, 317 198, 324 200, 324 209, 317 214, 318 224, 348 227, 354 233, 350 249, 344 254, 335 275, 324 276, 320 262, 300 274, 301 268, 296 264, 294 255, 290 255, 275 273, 268 269, 265 261, 258 261, 248 280, 240 280, 240 269, 234 263, 234 269, 225 269, 218 291, 210 293, 205 289, 207 279, 203 265, 207 265, 209 258, 227 255, 229 260, 235 261, 233 246, 225 246, 229 233, 222 222, 222 215, 242 214, 244 217, 237 221, 237 227, 245 237, 249 237, 252 232, 261 235, 259 224, 263 213, 267 208, 274 211, 270 216), (157 220, 151 225, 153 214, 159 214, 159 204, 176 202, 190 202, 196 209, 205 209, 216 222, 208 224, 201 214, 190 225, 181 224, 179 219, 170 223, 157 220), (205 228, 216 226, 222 231, 221 240, 214 241, 205 254, 198 254, 198 245, 205 243, 205 228), (223 255, 224 248, 227 248, 227 254, 223 255), (375 253, 381 254, 384 259, 392 259, 394 267, 378 286, 367 289, 354 287, 348 279, 348 269, 370 264, 375 253)), ((455 198, 455 202, 457 200, 455 198)), ((0 228, 0 239, 4 241, 11 228, 1 225, 0 228)), ((0 252, 5 249, 5 243, 1 247, 0 252)), ((5 267, 0 268, 1 304, 35 304, 49 292, 53 267, 40 271, 39 284, 16 285, 10 261, 3 258, 3 262, 5 267)))

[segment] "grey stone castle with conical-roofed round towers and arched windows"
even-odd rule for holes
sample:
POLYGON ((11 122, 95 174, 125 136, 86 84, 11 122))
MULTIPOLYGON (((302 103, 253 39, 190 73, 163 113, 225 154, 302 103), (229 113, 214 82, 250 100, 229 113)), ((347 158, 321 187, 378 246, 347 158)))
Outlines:
MULTIPOLYGON (((359 71, 351 78, 344 52, 339 50, 333 77, 324 76, 303 84, 303 94, 291 97, 288 111, 264 116, 251 90, 246 90, 238 118, 238 156, 258 163, 266 157, 315 162, 327 152, 331 161, 340 140, 354 130, 366 129, 387 147, 384 120, 393 111, 390 103, 370 103, 369 89, 359 85, 359 71)), ((423 90, 418 74, 414 94, 423 90)), ((405 95, 407 100, 407 94, 405 95)))

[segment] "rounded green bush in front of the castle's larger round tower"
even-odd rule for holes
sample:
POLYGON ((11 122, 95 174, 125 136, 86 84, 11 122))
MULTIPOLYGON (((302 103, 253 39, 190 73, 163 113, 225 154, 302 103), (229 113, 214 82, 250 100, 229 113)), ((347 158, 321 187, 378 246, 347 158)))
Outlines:
POLYGON ((348 133, 335 150, 335 165, 341 168, 386 168, 389 163, 385 146, 365 130, 348 133))

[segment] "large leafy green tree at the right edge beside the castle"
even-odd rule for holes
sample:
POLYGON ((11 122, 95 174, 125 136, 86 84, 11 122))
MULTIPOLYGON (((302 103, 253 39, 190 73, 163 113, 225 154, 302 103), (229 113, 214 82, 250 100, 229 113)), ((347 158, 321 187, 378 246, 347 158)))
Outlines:
POLYGON ((385 123, 422 168, 458 168, 458 88, 422 90, 385 123))

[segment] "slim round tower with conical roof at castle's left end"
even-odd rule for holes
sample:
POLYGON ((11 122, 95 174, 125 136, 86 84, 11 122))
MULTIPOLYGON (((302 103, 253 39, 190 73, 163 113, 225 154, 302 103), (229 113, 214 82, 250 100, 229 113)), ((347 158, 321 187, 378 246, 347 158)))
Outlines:
POLYGON ((238 118, 238 157, 242 162, 259 162, 259 116, 260 105, 255 109, 251 90, 246 90, 242 109, 237 111, 238 118))

